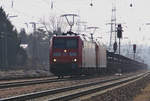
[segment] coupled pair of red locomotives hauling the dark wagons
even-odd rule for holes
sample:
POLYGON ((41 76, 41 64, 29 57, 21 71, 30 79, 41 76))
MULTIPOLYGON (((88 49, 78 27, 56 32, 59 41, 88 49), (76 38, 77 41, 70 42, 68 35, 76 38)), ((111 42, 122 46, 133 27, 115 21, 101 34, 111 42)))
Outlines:
POLYGON ((57 76, 94 74, 106 69, 106 49, 83 36, 54 36, 50 71, 57 76))

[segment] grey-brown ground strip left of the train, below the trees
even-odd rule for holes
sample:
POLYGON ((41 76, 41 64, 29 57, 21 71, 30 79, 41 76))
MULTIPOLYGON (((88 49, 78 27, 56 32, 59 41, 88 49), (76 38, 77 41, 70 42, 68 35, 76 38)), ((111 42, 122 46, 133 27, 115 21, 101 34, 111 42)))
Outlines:
POLYGON ((33 78, 42 78, 52 76, 48 71, 44 70, 12 70, 0 71, 0 83, 28 81, 33 78))

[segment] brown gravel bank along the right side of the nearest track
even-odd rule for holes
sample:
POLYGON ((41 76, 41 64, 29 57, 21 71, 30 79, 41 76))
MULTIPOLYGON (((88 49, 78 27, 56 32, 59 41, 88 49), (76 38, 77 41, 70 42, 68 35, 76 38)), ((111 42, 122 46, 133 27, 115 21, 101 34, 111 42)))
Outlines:
POLYGON ((140 94, 142 89, 149 83, 150 75, 142 80, 82 101, 133 101, 134 97, 140 94))

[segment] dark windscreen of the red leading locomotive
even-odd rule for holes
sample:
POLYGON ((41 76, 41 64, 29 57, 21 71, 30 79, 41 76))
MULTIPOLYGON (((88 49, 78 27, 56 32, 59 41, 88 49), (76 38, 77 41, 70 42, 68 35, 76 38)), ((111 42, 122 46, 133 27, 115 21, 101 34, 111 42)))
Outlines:
POLYGON ((75 38, 54 38, 53 48, 74 49, 78 47, 78 41, 75 38))

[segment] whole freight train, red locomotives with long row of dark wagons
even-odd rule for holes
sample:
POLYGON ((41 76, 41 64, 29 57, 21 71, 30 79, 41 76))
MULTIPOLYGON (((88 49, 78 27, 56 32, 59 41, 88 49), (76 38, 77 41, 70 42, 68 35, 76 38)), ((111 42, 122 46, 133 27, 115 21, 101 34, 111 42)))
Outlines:
POLYGON ((53 36, 50 40, 50 72, 65 75, 93 75, 136 71, 146 64, 108 52, 103 44, 80 35, 53 36))

